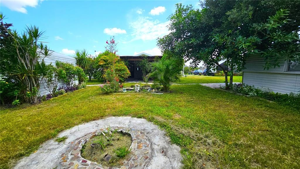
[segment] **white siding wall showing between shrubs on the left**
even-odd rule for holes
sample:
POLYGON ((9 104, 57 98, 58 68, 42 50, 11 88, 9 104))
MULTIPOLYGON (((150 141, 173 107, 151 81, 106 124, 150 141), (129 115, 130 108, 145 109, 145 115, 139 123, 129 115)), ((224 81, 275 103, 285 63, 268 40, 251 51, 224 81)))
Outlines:
MULTIPOLYGON (((53 66, 55 66, 56 60, 61 61, 61 62, 71 63, 74 66, 76 66, 75 58, 64 55, 64 54, 60 54, 57 52, 52 52, 51 56, 44 58, 44 61, 46 62, 46 64, 52 64, 53 66)), ((76 81, 76 84, 78 84, 78 81, 76 81)), ((60 81, 58 83, 58 87, 65 87, 65 86, 66 86, 66 84, 64 83, 64 81, 60 81)), ((47 91, 46 83, 44 80, 42 80, 40 90, 39 90, 39 95, 44 96, 48 93, 49 92, 47 91)))

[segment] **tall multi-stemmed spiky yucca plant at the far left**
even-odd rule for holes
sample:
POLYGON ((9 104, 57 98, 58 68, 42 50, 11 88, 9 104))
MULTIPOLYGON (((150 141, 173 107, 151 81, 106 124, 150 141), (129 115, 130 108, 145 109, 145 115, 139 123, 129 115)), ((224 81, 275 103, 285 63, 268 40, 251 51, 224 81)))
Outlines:
POLYGON ((1 74, 18 84, 19 94, 26 102, 37 103, 40 83, 49 70, 44 58, 51 55, 51 51, 41 42, 44 32, 30 26, 18 34, 16 30, 6 29, 3 19, 1 13, 4 28, 1 35, 5 32, 12 39, 12 44, 3 46, 3 50, 1 48, 1 74))

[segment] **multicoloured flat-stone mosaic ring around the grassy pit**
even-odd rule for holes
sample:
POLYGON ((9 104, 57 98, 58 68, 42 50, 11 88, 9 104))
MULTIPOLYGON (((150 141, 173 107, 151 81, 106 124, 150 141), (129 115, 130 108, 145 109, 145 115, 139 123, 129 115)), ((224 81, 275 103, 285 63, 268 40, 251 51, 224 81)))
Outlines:
POLYGON ((140 169, 143 168, 147 161, 149 161, 150 144, 147 137, 136 129, 125 127, 111 127, 110 130, 117 132, 128 133, 132 137, 131 157, 124 160, 122 166, 107 167, 97 164, 95 162, 86 160, 81 157, 82 146, 92 137, 101 132, 108 132, 108 128, 96 130, 94 132, 85 134, 83 137, 77 138, 71 142, 66 151, 61 154, 59 166, 61 169, 140 169))

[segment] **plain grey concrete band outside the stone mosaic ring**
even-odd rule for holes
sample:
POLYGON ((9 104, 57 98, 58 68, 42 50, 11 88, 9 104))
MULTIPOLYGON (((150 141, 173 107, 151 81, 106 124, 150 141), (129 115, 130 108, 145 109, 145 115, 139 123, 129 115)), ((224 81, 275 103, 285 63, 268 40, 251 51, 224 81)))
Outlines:
MULTIPOLYGON (((157 125, 143 119, 131 117, 108 117, 101 120, 90 121, 80 124, 69 130, 62 131, 57 137, 67 136, 64 143, 57 143, 55 139, 50 139, 43 143, 37 152, 23 157, 15 165, 15 169, 53 169, 59 168, 61 154, 63 154, 71 142, 88 133, 106 128, 107 126, 118 126, 124 128, 134 128, 143 132, 148 138, 151 153, 149 160, 144 165, 147 169, 176 169, 182 166, 182 156, 180 147, 171 144, 166 133, 157 125)), ((133 169, 135 167, 132 167, 133 169)))

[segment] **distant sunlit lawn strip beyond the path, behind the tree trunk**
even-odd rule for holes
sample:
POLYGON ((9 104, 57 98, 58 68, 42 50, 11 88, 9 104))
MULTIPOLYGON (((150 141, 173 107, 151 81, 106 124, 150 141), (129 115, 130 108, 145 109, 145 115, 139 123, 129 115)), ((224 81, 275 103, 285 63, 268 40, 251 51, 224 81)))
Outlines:
MULTIPOLYGON (((179 84, 188 83, 224 83, 225 77, 223 76, 204 76, 204 75, 188 75, 187 77, 181 77, 180 81, 175 82, 179 84)), ((228 76, 229 82, 229 76, 228 76)), ((233 82, 242 82, 242 76, 233 76, 233 82)))

